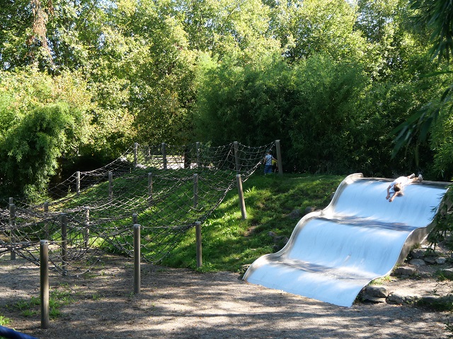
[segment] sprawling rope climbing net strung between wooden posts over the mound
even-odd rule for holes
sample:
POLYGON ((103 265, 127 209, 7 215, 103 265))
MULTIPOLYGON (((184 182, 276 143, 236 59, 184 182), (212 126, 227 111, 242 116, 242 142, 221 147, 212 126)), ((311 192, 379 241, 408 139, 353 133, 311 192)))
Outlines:
POLYGON ((8 208, 0 209, 0 256, 10 252, 11 259, 39 266, 40 240, 46 239, 50 268, 77 275, 104 251, 133 256, 133 225, 139 223, 142 259, 159 263, 219 206, 236 175, 248 179, 274 146, 135 143, 110 164, 50 186, 45 201, 9 198, 8 208))

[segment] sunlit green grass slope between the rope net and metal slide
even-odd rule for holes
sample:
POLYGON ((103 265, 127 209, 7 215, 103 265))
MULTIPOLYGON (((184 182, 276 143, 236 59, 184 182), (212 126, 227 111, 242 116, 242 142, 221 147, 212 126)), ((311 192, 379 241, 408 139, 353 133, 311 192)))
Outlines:
MULTIPOLYGON (((306 208, 323 209, 344 177, 333 175, 257 173, 243 183, 247 219, 242 220, 238 191, 202 224, 202 272, 243 272, 263 254, 282 248, 306 208)), ((196 268, 195 230, 190 230, 164 266, 196 268)))

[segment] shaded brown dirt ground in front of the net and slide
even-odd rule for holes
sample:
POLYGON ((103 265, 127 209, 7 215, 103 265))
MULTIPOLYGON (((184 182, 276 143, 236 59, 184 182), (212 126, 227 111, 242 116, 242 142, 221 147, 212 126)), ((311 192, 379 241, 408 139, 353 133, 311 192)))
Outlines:
MULTIPOLYGON (((449 312, 381 304, 350 308, 251 285, 234 273, 142 265, 142 292, 133 294, 133 261, 104 258, 91 276, 51 275, 51 291, 70 293, 61 316, 40 328, 39 312, 14 305, 39 297, 39 268, 0 258, 0 314, 9 326, 40 339, 66 338, 447 338, 449 312), (96 274, 94 274, 96 273, 96 274)), ((406 290, 441 288, 433 280, 400 280, 406 290)), ((39 310, 39 308, 38 308, 39 310)))

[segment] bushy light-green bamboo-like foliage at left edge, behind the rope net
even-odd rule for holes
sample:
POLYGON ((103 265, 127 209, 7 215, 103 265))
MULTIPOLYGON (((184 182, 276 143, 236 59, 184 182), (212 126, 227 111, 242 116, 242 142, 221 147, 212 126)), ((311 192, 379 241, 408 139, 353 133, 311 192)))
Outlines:
POLYGON ((86 83, 76 73, 1 71, 0 193, 44 189, 62 155, 74 155, 90 142, 92 107, 86 83))

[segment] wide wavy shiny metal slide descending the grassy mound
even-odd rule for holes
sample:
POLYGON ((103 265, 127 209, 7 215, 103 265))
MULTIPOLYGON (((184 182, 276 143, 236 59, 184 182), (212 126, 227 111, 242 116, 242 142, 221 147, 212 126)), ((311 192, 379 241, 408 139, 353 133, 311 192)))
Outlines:
POLYGON ((448 183, 409 184, 389 203, 393 179, 346 177, 329 206, 297 223, 286 246, 258 258, 243 280, 350 307, 371 280, 423 242, 448 183))

